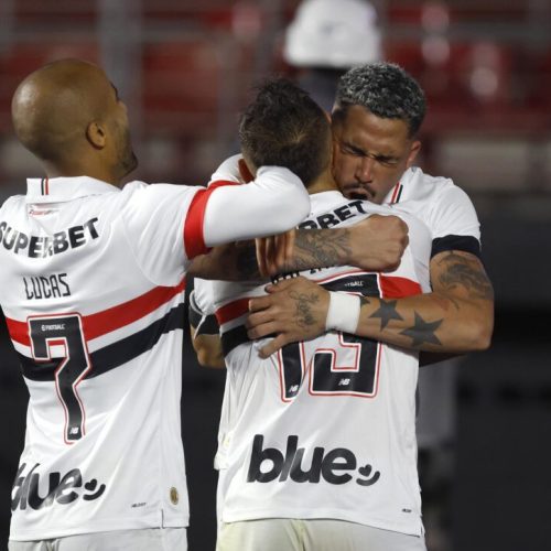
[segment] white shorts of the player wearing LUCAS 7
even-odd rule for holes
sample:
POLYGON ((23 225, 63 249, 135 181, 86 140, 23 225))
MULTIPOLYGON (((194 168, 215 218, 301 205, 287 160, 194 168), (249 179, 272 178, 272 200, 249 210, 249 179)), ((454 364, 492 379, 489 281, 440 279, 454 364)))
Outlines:
POLYGON ((83 533, 53 540, 8 542, 9 551, 187 551, 185 528, 83 533))

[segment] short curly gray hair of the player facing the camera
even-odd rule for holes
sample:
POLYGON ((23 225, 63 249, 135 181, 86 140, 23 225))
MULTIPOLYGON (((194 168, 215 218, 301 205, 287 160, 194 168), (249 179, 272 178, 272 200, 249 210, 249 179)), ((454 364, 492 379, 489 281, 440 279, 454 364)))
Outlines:
POLYGON ((354 105, 377 117, 404 120, 410 137, 419 131, 426 110, 419 83, 399 65, 385 62, 354 67, 341 77, 334 115, 354 105))

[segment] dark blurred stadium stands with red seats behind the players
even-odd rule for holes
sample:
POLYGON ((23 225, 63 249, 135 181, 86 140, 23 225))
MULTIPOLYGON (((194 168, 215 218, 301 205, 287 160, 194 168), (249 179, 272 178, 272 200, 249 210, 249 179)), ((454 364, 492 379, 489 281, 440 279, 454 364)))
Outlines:
MULTIPOLYGON (((296 76, 282 43, 298 4, 0 0, 0 198, 24 193, 25 177, 41 175, 13 138, 11 95, 28 73, 61 57, 100 64, 118 87, 140 159, 133 177, 205 183, 236 151, 237 117, 251 85, 273 73, 296 76)), ((383 57, 406 67, 428 95, 420 164, 453 177, 473 198, 497 296, 494 345, 461 360, 451 395, 454 431, 443 445, 454 453, 444 475, 433 469, 436 482, 428 483, 436 511, 426 511, 429 551, 549 549, 551 1, 372 4, 383 57)), ((210 551, 224 374, 202 370, 186 355, 190 551, 210 551)), ((0 549, 26 399, 0 320, 0 549)), ((436 404, 430 414, 437 421, 444 413, 436 404)))

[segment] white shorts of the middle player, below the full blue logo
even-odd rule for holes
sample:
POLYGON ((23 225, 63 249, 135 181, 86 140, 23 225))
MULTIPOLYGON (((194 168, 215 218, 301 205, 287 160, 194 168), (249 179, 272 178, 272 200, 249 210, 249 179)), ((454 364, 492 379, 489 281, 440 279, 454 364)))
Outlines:
POLYGON ((327 519, 223 522, 216 551, 426 551, 424 537, 327 519))

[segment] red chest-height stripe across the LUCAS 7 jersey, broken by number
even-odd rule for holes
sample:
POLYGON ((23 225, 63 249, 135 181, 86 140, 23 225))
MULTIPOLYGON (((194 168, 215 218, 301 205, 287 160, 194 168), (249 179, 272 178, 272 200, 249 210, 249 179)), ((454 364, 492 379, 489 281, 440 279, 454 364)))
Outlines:
MULTIPOLYGON (((86 341, 106 335, 129 325, 162 306, 185 289, 185 279, 177 287, 155 287, 151 291, 110 309, 82 316, 86 341)), ((33 316, 35 317, 35 316, 33 316)), ((31 346, 26 322, 6 318, 10 337, 15 343, 31 346)))

